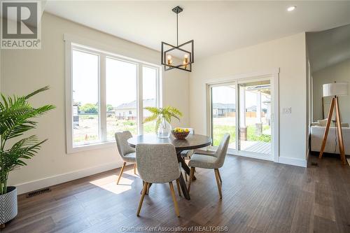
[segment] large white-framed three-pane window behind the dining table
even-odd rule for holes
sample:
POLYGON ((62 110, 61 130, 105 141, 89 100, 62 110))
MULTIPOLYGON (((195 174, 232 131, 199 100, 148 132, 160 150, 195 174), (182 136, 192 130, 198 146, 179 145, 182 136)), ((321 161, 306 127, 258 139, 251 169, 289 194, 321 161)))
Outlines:
POLYGON ((146 106, 160 106, 160 67, 66 42, 67 152, 100 147, 114 134, 154 132, 146 106))

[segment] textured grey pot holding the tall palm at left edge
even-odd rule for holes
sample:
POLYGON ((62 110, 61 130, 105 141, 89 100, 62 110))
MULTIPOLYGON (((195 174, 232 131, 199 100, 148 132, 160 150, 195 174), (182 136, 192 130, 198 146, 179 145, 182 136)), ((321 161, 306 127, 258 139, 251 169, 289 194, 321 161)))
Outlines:
POLYGON ((9 186, 4 195, 0 195, 0 225, 17 216, 17 188, 9 186))

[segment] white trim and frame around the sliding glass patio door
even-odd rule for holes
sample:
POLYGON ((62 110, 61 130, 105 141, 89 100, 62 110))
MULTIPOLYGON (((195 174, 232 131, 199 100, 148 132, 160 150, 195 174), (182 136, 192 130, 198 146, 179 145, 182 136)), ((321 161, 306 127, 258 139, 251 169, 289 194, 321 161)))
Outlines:
MULTIPOLYGON (((263 157, 259 156, 258 153, 255 155, 248 155, 248 153, 244 153, 244 151, 231 151, 229 150, 228 153, 234 153, 235 155, 240 156, 246 156, 246 157, 255 157, 262 160, 273 160, 274 162, 279 162, 279 68, 272 69, 270 71, 260 71, 260 72, 253 72, 253 73, 243 73, 243 74, 237 74, 234 76, 227 76, 223 78, 218 78, 216 80, 211 80, 207 82, 206 85, 206 125, 207 125, 207 136, 211 136, 211 87, 215 85, 223 85, 223 84, 230 84, 230 83, 242 83, 246 82, 248 80, 256 80, 257 78, 269 78, 271 80, 271 96, 272 96, 272 125, 273 125, 273 134, 272 134, 272 155, 270 157, 263 157)), ((236 90, 236 97, 238 95, 238 91, 236 90)), ((236 98, 236 101, 239 101, 239 99, 236 98)), ((236 111, 237 113, 237 111, 236 111)), ((236 125, 237 125, 236 118, 236 125)), ((238 127, 236 127, 236 135, 238 131, 238 127)), ((236 140, 236 148, 237 148, 237 142, 236 140)))

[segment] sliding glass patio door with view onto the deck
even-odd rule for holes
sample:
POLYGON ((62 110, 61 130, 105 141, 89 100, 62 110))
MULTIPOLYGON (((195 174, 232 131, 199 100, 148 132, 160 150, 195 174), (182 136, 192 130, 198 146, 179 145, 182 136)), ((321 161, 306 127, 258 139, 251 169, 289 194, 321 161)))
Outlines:
POLYGON ((213 146, 228 133, 231 153, 272 159, 270 78, 220 83, 209 89, 213 146))

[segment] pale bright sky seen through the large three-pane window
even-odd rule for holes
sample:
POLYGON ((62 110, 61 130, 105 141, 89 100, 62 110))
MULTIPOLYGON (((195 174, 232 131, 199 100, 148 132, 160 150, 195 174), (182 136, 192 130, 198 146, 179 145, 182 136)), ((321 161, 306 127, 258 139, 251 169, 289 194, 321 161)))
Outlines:
MULTIPOLYGON (((157 70, 143 67, 143 97, 155 99, 157 70)), ((99 99, 99 57, 73 50, 73 101, 99 99)), ((137 65, 106 57, 106 102, 113 106, 137 99, 137 65)))

